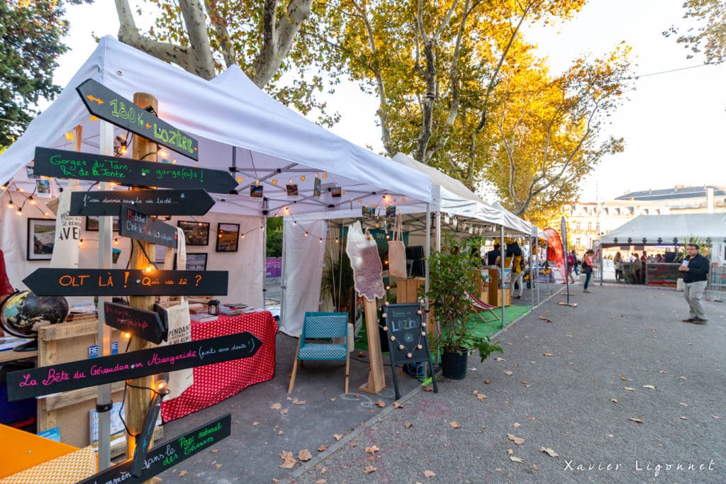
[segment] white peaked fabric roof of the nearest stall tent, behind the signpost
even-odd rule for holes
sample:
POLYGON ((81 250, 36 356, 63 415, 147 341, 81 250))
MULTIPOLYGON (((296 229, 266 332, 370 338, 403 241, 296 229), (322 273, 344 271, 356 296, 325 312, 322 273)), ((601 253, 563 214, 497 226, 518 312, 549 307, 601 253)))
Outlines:
MULTIPOLYGON (((288 110, 248 79, 243 82, 246 77, 238 67, 211 83, 110 36, 101 39, 55 102, 0 156, 0 183, 12 179, 32 190, 23 166, 33 159, 35 147, 72 149, 73 141, 64 134, 79 124, 81 151, 99 152, 100 123, 89 120, 75 90, 89 78, 127 99, 137 91, 153 94, 159 117, 198 139, 200 168, 227 171, 234 160, 237 176, 242 176, 239 194, 213 195, 215 211, 261 215, 267 210, 276 216, 338 210, 358 200, 381 206, 431 201, 429 176, 391 163, 288 110), (322 181, 319 198, 313 196, 317 176, 322 181), (297 197, 287 197, 288 180, 298 185, 297 197), (249 196, 256 181, 264 186, 265 199, 249 196), (330 192, 336 184, 345 191, 342 197, 330 192)), ((115 128, 114 134, 126 131, 115 128)), ((181 165, 197 165, 182 155, 171 157, 181 165)))

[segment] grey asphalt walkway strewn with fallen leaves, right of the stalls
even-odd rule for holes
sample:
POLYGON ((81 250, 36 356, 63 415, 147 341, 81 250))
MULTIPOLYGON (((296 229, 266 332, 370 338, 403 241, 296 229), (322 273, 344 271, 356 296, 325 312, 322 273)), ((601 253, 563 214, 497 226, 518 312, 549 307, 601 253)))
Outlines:
POLYGON ((682 292, 591 290, 571 287, 574 308, 553 295, 497 335, 502 360, 470 356, 464 380, 416 387, 280 482, 726 483, 726 305, 700 326, 682 292))

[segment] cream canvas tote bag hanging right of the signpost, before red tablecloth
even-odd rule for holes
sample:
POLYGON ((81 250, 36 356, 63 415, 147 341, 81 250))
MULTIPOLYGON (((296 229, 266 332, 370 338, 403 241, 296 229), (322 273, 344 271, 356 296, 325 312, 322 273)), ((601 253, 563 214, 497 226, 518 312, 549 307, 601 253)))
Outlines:
MULTIPOLYGON (((177 249, 176 249, 176 268, 183 271, 187 267, 187 242, 184 239, 184 231, 176 228, 177 249)), ((165 266, 171 265, 173 260, 174 249, 167 247, 165 266)), ((171 268, 171 267, 166 267, 171 268)), ((166 308, 166 316, 169 324, 168 340, 163 345, 176 345, 177 343, 188 343, 192 340, 192 320, 189 318, 189 303, 181 296, 181 302, 178 305, 166 308)), ((169 373, 167 400, 176 398, 184 390, 194 384, 194 372, 192 368, 177 370, 169 373)))

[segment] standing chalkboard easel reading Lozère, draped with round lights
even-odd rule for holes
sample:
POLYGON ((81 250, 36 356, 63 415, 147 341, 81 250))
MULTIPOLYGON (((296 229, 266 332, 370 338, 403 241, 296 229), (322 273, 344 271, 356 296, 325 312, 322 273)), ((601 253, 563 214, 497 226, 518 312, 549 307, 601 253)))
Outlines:
MULTIPOLYGON (((431 351, 428 348, 428 326, 423 321, 423 309, 420 303, 387 304, 381 311, 388 352, 391 355, 393 388, 396 391, 396 398, 400 398, 396 365, 425 361, 428 362, 430 370, 433 368, 431 351)), ((431 372, 433 377, 433 370, 431 372)), ((433 391, 438 392, 436 378, 432 380, 433 391)))

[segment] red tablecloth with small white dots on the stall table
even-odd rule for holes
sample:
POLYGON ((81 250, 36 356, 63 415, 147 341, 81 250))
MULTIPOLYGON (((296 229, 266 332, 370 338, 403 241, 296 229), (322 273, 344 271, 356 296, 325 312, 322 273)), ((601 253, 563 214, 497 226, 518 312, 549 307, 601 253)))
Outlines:
POLYGON ((193 341, 243 331, 249 331, 262 341, 255 356, 195 367, 194 385, 177 398, 161 403, 161 418, 164 422, 205 409, 255 383, 272 380, 277 322, 269 311, 219 316, 216 321, 206 323, 192 321, 193 341))

